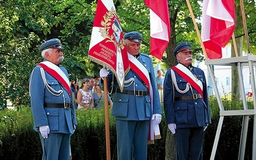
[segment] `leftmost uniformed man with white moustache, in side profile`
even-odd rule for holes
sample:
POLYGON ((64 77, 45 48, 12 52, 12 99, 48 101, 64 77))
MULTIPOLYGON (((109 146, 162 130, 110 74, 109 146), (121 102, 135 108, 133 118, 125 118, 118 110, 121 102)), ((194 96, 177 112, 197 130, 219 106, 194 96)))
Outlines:
POLYGON ((69 159, 70 135, 77 125, 68 72, 60 65, 62 49, 57 38, 40 45, 44 61, 29 78, 33 128, 39 132, 42 159, 69 159))

